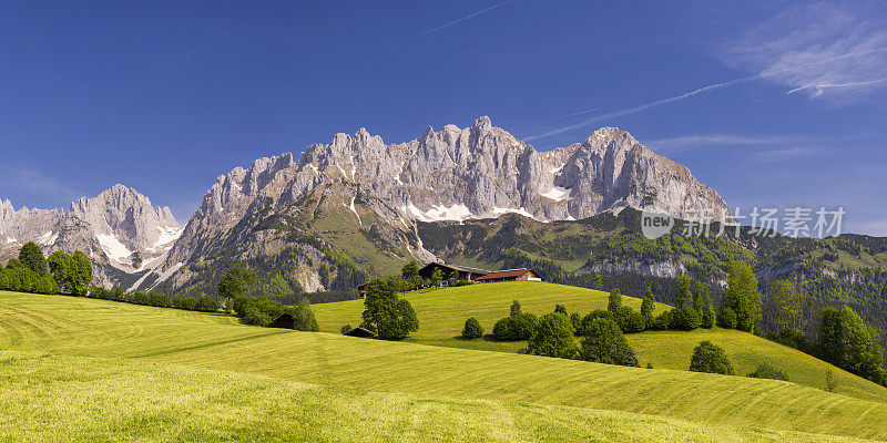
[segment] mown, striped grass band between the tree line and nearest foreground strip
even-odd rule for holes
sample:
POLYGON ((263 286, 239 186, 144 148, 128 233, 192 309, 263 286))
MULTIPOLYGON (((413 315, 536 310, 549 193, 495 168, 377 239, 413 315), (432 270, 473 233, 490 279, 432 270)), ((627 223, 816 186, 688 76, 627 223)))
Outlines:
POLYGON ((220 315, 10 292, 0 292, 0 347, 18 351, 136 358, 349 389, 887 439, 887 403, 772 380, 263 329, 220 315))

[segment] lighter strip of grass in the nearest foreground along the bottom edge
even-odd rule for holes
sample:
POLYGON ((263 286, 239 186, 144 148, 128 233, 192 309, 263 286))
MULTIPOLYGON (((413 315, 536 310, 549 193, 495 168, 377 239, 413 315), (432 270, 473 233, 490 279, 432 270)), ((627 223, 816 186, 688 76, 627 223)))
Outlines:
POLYGON ((17 442, 858 441, 39 352, 0 352, 0 440, 17 442))

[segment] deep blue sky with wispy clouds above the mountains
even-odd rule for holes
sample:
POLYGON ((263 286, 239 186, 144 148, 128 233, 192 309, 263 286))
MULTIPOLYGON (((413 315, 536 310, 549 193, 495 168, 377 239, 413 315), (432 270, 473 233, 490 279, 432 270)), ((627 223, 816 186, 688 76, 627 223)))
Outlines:
POLYGON ((185 223, 257 157, 480 115, 539 150, 619 126, 731 206, 844 206, 887 235, 878 2, 0 3, 16 207, 123 183, 185 223))

